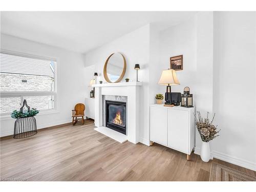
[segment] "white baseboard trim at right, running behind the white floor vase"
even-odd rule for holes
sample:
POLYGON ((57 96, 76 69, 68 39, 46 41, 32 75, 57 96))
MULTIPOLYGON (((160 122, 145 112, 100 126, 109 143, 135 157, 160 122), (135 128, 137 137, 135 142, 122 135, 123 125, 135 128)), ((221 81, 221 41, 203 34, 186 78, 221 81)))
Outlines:
MULTIPOLYGON (((200 148, 195 147, 194 153, 197 155, 200 155, 200 148)), ((217 151, 212 151, 211 157, 256 171, 256 163, 253 163, 241 158, 232 157, 230 155, 226 155, 217 151)))

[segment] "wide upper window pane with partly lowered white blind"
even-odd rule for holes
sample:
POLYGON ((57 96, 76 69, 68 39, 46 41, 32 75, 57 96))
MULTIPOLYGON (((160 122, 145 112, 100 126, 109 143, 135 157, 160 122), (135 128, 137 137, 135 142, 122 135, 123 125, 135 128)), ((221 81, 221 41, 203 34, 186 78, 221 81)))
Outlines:
POLYGON ((0 53, 0 91, 54 91, 55 61, 0 53))

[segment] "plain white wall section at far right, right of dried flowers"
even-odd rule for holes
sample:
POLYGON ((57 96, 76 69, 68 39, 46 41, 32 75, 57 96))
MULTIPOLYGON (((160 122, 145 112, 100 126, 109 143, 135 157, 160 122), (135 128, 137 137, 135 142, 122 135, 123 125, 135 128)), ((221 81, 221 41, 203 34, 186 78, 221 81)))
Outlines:
POLYGON ((255 12, 214 13, 214 105, 217 158, 256 170, 255 12))

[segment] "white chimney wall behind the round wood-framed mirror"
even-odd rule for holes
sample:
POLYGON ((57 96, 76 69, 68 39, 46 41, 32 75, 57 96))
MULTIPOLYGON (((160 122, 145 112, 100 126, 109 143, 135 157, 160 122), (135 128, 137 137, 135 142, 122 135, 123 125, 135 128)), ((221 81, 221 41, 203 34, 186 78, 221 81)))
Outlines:
MULTIPOLYGON (((114 52, 120 52, 126 59, 126 72, 123 80, 127 77, 136 81, 134 65, 140 64, 139 80, 143 82, 140 88, 140 141, 148 144, 149 140, 149 51, 150 51, 150 25, 143 26, 131 33, 119 37, 108 44, 84 55, 85 66, 95 66, 95 72, 105 82, 103 66, 106 58, 114 52)), ((90 76, 91 74, 86 74, 90 76)), ((97 80, 98 82, 98 80, 97 80)), ((90 90, 87 90, 87 92, 90 90)))

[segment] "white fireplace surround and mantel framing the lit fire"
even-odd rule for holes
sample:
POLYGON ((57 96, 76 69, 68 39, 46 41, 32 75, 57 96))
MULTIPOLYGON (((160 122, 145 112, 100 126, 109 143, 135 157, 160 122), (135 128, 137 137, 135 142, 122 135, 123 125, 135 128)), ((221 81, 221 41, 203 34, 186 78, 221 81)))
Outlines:
MULTIPOLYGON (((97 127, 102 127, 102 96, 126 96, 126 137, 132 143, 139 142, 139 91, 142 82, 118 82, 94 84, 95 87, 95 121, 97 127)), ((107 128, 109 129, 109 128, 107 128)))

